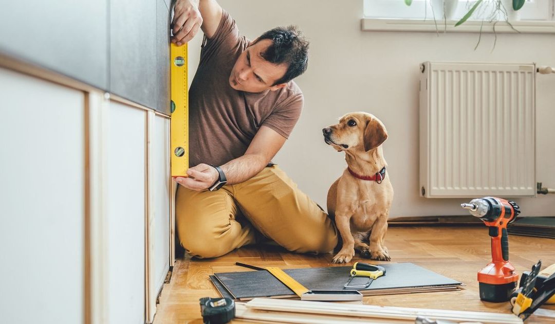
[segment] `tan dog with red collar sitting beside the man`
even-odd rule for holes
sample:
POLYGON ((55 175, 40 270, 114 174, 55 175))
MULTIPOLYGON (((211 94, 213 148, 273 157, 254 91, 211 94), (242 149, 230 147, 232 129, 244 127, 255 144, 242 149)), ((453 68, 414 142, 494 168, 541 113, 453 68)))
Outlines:
POLYGON ((384 124, 372 114, 356 112, 322 132, 327 144, 345 152, 348 166, 327 193, 327 211, 343 240, 333 262, 351 261, 355 250, 363 257, 391 260, 384 245, 393 200, 381 147, 387 138, 384 124))

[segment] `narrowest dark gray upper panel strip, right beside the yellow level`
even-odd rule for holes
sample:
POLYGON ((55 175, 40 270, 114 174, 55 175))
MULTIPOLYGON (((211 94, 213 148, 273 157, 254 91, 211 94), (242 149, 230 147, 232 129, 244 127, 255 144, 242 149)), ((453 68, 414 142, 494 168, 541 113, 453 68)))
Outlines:
POLYGON ((166 0, 157 0, 156 12, 156 87, 157 105, 160 112, 170 114, 170 12, 165 3, 166 0))

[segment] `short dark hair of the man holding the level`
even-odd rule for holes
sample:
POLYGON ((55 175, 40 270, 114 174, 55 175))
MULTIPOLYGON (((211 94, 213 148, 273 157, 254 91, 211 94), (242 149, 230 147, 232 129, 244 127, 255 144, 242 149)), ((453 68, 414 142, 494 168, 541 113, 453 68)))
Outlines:
POLYGON ((262 34, 256 42, 263 39, 270 39, 272 44, 260 53, 262 58, 274 64, 289 64, 284 76, 274 82, 274 86, 289 82, 306 71, 309 42, 296 26, 276 27, 262 34))

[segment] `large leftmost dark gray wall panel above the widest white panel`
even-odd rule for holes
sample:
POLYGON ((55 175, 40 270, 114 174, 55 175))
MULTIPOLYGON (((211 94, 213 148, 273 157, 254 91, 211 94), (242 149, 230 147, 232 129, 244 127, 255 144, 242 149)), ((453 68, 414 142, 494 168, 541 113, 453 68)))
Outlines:
POLYGON ((107 89, 107 19, 108 0, 2 1, 0 52, 107 89))

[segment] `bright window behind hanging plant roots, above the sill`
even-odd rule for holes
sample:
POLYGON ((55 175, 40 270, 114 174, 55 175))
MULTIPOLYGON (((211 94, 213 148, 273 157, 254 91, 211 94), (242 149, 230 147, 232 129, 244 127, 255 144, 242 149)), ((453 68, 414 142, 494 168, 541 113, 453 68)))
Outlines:
MULTIPOLYGON (((456 1, 456 8, 451 20, 461 19, 472 8, 476 1, 467 0, 446 0, 456 1)), ((483 0, 482 4, 472 14, 468 20, 490 20, 492 8, 495 0, 483 0)), ((364 18, 400 18, 400 19, 426 19, 436 21, 443 20, 443 10, 433 10, 431 3, 442 3, 441 0, 413 0, 410 6, 404 0, 364 0, 364 18)), ((505 0, 502 0, 505 2, 505 0)), ((554 0, 526 0, 524 6, 518 10, 519 20, 521 21, 552 21, 553 20, 554 0)), ((508 5, 512 6, 512 0, 508 5)), ((441 4, 440 4, 441 6, 441 4)), ((502 14, 498 14, 498 20, 505 20, 502 14)), ((511 19, 512 20, 512 19, 511 19)))

